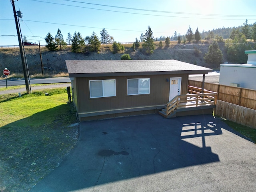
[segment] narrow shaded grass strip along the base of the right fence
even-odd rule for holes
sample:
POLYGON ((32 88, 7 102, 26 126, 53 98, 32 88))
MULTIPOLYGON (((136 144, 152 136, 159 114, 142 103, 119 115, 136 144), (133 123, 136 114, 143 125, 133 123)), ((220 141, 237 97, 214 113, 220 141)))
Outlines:
POLYGON ((228 124, 228 126, 230 126, 235 131, 240 132, 247 138, 250 138, 254 143, 256 143, 256 129, 250 128, 229 120, 225 120, 224 122, 228 124))

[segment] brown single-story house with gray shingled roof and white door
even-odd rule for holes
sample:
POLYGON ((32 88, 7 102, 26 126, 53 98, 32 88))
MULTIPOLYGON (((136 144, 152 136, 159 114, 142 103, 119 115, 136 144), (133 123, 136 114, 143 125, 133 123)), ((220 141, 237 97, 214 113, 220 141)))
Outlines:
POLYGON ((177 60, 66 60, 81 121, 157 113, 188 93, 189 74, 212 69, 177 60))

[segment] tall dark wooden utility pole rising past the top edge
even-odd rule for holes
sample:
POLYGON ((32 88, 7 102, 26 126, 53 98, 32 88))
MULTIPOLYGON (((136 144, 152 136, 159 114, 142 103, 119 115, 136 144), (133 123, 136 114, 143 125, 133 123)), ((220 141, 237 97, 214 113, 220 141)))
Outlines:
POLYGON ((18 19, 17 19, 17 15, 16 15, 14 0, 12 0, 12 8, 13 8, 13 13, 14 13, 14 19, 15 19, 15 24, 16 24, 16 29, 17 29, 18 40, 19 40, 20 56, 21 56, 22 68, 23 68, 23 72, 24 72, 26 90, 27 90, 27 94, 30 94, 30 88, 28 86, 28 75, 27 75, 27 70, 26 70, 24 54, 23 54, 23 50, 22 50, 22 43, 21 43, 21 38, 20 38, 20 29, 19 29, 19 26, 18 26, 18 19))

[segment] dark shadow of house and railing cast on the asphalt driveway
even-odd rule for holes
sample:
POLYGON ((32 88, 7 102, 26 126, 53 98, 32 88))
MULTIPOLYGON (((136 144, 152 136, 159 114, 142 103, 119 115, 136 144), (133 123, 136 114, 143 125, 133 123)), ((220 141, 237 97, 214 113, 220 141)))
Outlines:
POLYGON ((31 191, 73 191, 220 161, 205 137, 222 134, 212 115, 144 115, 80 122, 79 141, 31 191))

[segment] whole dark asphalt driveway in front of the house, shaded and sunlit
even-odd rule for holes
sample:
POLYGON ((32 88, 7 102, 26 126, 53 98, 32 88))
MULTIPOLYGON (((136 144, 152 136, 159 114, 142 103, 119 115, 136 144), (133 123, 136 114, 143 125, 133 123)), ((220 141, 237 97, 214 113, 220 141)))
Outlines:
POLYGON ((212 115, 80 123, 76 147, 32 192, 255 191, 256 144, 212 115))

